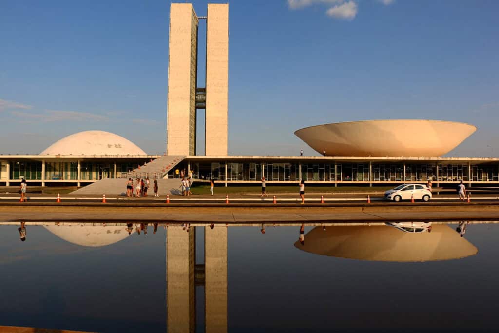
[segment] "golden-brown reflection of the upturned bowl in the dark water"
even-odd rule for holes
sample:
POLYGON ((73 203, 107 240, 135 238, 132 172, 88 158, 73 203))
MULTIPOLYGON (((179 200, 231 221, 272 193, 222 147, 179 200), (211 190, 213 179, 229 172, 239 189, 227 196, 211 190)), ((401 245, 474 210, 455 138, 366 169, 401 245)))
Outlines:
POLYGON ((324 256, 397 262, 459 259, 478 249, 447 225, 433 225, 432 232, 405 233, 389 226, 315 227, 305 235, 300 250, 324 256))

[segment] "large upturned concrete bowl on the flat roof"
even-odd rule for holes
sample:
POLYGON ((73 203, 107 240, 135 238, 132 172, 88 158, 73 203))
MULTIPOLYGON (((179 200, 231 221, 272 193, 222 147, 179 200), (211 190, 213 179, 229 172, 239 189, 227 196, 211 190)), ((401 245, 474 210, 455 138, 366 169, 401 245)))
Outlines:
POLYGON ((365 120, 305 127, 294 134, 328 156, 437 157, 476 130, 454 121, 365 120))

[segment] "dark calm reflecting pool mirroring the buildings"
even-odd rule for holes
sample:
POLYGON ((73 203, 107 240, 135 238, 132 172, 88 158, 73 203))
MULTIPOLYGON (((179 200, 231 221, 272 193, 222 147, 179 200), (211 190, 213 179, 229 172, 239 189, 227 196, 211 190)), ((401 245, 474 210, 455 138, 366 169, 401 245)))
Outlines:
POLYGON ((303 245, 299 226, 270 225, 265 234, 260 227, 187 233, 160 226, 153 234, 149 225, 147 235, 133 226, 128 236, 126 225, 27 225, 23 242, 18 227, 0 226, 0 326, 93 332, 220 332, 225 323, 229 332, 497 327, 495 224, 469 225, 464 238, 456 225, 420 234, 389 226, 305 227, 303 245))

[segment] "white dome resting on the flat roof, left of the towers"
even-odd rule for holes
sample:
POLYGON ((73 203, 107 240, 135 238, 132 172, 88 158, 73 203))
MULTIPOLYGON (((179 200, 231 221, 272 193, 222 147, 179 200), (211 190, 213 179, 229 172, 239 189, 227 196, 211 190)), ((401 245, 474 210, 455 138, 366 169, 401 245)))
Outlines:
POLYGON ((105 131, 83 131, 66 136, 40 155, 147 155, 124 137, 105 131))

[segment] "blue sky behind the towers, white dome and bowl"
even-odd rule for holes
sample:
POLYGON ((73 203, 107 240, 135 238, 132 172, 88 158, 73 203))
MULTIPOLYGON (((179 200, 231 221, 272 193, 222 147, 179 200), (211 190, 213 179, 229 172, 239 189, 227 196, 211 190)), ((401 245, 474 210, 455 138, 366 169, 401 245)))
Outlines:
MULTIPOLYGON (((198 15, 207 3, 193 1, 198 15)), ((169 4, 1 1, 0 152, 90 129, 164 152, 169 4)), ((399 118, 474 124, 449 155, 499 156, 498 12, 495 0, 230 1, 229 153, 315 155, 296 129, 399 118)))

